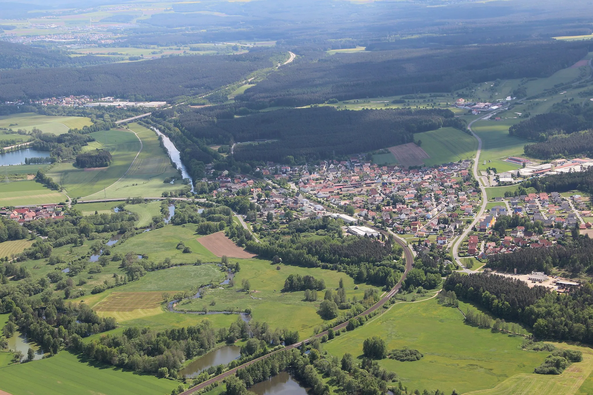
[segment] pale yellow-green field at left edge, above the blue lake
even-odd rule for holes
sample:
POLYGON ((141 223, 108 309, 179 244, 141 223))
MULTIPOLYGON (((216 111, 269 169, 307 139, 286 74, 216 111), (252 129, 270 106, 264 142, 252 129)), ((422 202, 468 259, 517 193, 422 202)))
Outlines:
POLYGON ((83 126, 92 124, 91 119, 87 117, 52 117, 50 115, 39 115, 35 113, 3 115, 0 117, 0 127, 6 127, 12 130, 25 129, 28 131, 36 127, 44 133, 53 134, 68 133, 69 129, 80 129, 83 126))

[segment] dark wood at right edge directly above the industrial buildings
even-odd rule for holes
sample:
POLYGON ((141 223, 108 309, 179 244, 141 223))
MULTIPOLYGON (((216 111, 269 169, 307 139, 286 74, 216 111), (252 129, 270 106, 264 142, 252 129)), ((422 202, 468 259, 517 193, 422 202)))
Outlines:
POLYGON ((570 158, 593 155, 593 129, 582 133, 556 134, 545 142, 526 144, 525 155, 539 159, 570 158))

